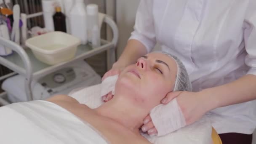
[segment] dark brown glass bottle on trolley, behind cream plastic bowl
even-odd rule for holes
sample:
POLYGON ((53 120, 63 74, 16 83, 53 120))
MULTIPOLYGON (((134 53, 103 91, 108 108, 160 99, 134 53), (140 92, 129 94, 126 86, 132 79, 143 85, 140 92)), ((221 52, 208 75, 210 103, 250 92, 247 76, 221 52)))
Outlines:
POLYGON ((67 32, 66 16, 61 13, 61 7, 56 7, 56 13, 53 15, 54 30, 67 32))

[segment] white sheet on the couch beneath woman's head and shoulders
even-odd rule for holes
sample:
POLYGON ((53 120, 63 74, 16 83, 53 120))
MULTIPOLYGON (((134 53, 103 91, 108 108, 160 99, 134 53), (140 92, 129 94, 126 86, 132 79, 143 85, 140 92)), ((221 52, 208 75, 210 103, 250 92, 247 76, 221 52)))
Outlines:
MULTIPOLYGON (((101 88, 104 85, 93 85, 88 88, 80 88, 69 93, 69 96, 77 99, 81 104, 86 104, 90 108, 99 107, 101 101, 101 88)), ((144 135, 153 144, 212 144, 211 122, 208 117, 169 133, 165 136, 150 137, 144 135)))

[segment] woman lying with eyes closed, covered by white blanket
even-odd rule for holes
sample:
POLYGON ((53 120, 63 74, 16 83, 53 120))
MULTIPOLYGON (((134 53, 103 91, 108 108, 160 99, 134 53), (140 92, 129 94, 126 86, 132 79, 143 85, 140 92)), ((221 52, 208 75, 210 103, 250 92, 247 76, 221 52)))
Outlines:
MULTIPOLYGON (((149 144, 139 130, 144 117, 175 87, 176 61, 159 52, 139 58, 119 75, 115 96, 96 109, 66 95, 1 107, 0 143, 149 144)), ((186 83, 181 84, 189 88, 186 83)))

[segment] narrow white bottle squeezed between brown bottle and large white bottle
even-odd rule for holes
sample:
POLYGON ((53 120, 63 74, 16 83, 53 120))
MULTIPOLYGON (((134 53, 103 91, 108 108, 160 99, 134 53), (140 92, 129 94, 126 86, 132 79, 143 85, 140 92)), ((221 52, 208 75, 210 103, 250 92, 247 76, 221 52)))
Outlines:
POLYGON ((74 6, 74 0, 63 0, 63 2, 64 2, 65 15, 66 15, 67 33, 71 34, 71 29, 70 29, 70 11, 71 11, 72 7, 74 6))

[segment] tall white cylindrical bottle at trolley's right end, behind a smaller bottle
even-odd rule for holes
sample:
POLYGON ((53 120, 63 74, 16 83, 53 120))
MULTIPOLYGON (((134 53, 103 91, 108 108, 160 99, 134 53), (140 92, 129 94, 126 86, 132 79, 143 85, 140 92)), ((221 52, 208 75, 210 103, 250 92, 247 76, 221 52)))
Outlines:
MULTIPOLYGON (((99 8, 96 4, 89 4, 86 6, 87 10, 87 35, 88 42, 92 42, 92 31, 99 29, 99 8)), ((96 36, 96 35, 94 35, 96 36)))

